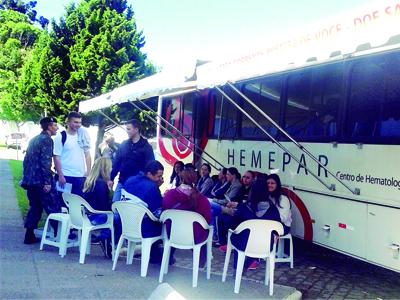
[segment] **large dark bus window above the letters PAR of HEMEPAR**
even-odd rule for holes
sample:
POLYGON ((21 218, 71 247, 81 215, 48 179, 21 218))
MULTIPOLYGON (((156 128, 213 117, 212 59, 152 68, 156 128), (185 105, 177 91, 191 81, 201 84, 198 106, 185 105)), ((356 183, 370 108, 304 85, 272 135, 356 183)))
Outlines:
POLYGON ((342 91, 342 65, 323 66, 290 76, 286 131, 297 140, 334 139, 342 91))

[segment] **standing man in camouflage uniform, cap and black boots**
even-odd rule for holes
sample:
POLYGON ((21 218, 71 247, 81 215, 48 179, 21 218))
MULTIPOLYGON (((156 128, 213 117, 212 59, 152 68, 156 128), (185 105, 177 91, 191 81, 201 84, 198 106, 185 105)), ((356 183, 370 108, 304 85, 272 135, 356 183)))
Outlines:
POLYGON ((52 197, 51 160, 53 157, 53 140, 57 133, 56 120, 45 117, 40 120, 42 132, 30 142, 23 163, 21 186, 26 189, 29 200, 29 211, 25 221, 25 244, 33 244, 39 240, 33 230, 37 228, 43 209, 47 214, 60 212, 61 207, 52 197))

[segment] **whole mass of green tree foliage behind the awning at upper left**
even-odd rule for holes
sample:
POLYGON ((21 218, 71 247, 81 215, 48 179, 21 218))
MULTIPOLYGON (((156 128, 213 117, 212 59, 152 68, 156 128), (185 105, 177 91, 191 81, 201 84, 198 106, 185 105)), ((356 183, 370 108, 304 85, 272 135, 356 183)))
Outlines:
MULTIPOLYGON (((7 1, 9 8, 16 2, 7 1)), ((126 0, 72 3, 49 32, 35 28, 26 15, 0 12, 0 79, 7 78, 0 82, 0 117, 37 120, 46 111, 62 122, 80 101, 155 73, 141 51, 145 40, 126 0)), ((118 122, 144 118, 131 105, 104 112, 118 122)), ((144 120, 154 132, 154 124, 144 120)), ((84 123, 97 124, 100 131, 115 126, 98 113, 84 123)))

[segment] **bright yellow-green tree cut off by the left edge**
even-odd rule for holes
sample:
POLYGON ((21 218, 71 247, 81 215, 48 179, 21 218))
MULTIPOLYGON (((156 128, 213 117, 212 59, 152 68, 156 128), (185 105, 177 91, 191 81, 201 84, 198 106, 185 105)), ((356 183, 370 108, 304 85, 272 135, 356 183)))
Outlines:
POLYGON ((41 34, 27 16, 12 10, 0 10, 0 117, 25 121, 38 117, 40 108, 21 101, 19 82, 23 67, 41 34))

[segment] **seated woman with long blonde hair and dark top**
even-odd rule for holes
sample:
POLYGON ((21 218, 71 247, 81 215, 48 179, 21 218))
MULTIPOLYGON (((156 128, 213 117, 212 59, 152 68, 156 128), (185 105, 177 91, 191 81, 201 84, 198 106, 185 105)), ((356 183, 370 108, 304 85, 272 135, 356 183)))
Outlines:
MULTIPOLYGON (((111 159, 99 157, 93 163, 88 177, 83 186, 83 198, 96 210, 111 210, 111 194, 107 182, 110 180, 111 159)), ((103 224, 107 220, 105 214, 88 215, 93 225, 103 224)), ((111 244, 109 240, 110 232, 108 229, 102 230, 100 236, 96 238, 101 242, 104 254, 111 258, 111 244)))

